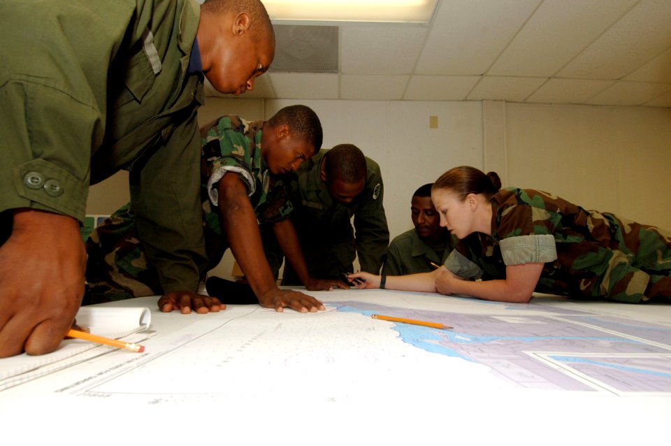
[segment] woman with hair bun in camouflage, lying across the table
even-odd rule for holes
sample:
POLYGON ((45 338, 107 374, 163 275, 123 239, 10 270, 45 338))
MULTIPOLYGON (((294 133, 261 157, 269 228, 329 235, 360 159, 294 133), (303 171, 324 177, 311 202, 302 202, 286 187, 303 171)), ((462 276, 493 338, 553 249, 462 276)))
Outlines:
MULTIPOLYGON (((462 238, 447 271, 433 274, 442 294, 513 302, 528 301, 533 291, 628 303, 671 298, 668 231, 547 192, 500 189, 496 173, 468 166, 442 175, 432 196, 441 224, 462 238)), ((368 285, 405 289, 415 280, 415 289, 426 289, 431 280, 418 279, 370 278, 368 285)))

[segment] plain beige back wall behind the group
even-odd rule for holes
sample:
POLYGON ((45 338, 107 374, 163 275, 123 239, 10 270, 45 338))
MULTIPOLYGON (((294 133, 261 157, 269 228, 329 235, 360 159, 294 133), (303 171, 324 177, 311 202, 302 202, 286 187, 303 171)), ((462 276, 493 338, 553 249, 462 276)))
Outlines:
MULTIPOLYGON (((496 171, 504 185, 671 229, 669 108, 208 98, 199 122, 229 113, 267 119, 294 103, 317 112, 325 148, 353 143, 380 164, 392 238, 412 227, 412 192, 459 164, 496 171), (431 116, 438 128, 430 128, 431 116)), ((127 189, 125 173, 93 186, 88 212, 111 213, 128 200, 127 189)), ((232 263, 228 252, 213 273, 229 277, 232 263)))

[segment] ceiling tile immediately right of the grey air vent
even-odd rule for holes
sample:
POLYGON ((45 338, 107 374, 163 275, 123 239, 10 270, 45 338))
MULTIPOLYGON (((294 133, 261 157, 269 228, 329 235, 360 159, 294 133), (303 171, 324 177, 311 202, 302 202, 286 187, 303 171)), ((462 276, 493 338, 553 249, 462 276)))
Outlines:
POLYGON ((417 24, 342 26, 340 72, 410 74, 427 33, 426 25, 417 24))

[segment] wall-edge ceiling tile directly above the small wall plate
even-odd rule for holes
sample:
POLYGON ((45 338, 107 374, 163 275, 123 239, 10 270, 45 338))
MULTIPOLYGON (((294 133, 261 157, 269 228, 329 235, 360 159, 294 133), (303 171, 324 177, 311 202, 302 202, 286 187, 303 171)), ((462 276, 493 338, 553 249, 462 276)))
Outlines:
POLYGON ((410 78, 407 101, 463 101, 480 76, 423 76, 410 78))

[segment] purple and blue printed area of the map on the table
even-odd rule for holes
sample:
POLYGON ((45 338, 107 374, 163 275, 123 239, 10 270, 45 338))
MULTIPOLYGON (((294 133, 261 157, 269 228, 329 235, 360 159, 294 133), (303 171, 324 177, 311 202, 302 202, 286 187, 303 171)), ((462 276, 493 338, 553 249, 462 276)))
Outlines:
POLYGON ((671 392, 671 328, 596 312, 529 303, 482 302, 489 314, 464 314, 330 302, 339 312, 380 313, 440 322, 450 330, 395 324, 405 343, 491 368, 521 387, 610 394, 671 392), (514 315, 507 315, 514 308, 514 315), (520 308, 529 315, 520 315, 520 308))

